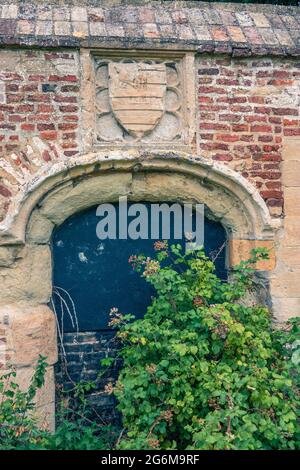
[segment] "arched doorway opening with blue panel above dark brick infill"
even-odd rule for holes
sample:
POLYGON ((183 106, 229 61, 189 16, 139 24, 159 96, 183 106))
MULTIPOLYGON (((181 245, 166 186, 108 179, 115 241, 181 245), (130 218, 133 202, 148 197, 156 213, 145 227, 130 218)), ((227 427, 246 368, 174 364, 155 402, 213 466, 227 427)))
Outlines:
MULTIPOLYGON (((132 204, 128 205, 129 210, 132 204)), ((150 219, 151 203, 143 203, 143 206, 150 219)), ((171 207, 171 203, 167 206, 171 207)), ((118 204, 114 204, 114 208, 118 221, 118 204)), ((99 240, 96 209, 92 207, 73 215, 54 231, 52 237, 52 307, 58 321, 60 353, 56 366, 57 401, 62 388, 71 390, 78 382, 92 381, 94 388, 87 395, 88 401, 97 416, 110 422, 116 417, 115 403, 104 393, 104 387, 117 375, 118 364, 105 376, 99 375, 101 359, 116 351, 114 330, 108 326, 109 311, 118 307, 136 318, 146 312, 154 291, 132 270, 128 259, 142 253, 153 256, 155 240, 99 240)), ((193 214, 192 225, 195 222, 193 214)), ((179 243, 185 249, 183 231, 181 238, 174 231, 174 217, 170 219, 170 225, 169 243, 179 243)), ((226 232, 219 222, 207 217, 204 219, 204 248, 215 260, 217 274, 225 278, 226 232)))

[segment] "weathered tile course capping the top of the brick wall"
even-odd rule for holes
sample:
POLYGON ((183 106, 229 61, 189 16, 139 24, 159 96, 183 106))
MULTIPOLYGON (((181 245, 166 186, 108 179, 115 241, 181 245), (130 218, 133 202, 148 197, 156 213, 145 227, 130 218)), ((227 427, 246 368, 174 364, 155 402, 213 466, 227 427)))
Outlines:
POLYGON ((37 3, 2 0, 1 44, 167 46, 235 56, 299 56, 300 9, 182 1, 52 0, 37 3))

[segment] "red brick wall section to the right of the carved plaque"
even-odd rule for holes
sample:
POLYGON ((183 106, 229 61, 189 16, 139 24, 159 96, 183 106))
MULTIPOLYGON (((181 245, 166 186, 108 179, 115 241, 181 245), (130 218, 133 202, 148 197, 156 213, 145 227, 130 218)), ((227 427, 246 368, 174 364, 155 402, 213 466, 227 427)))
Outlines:
POLYGON ((251 180, 281 215, 282 141, 300 135, 300 63, 284 59, 199 59, 201 155, 251 180))

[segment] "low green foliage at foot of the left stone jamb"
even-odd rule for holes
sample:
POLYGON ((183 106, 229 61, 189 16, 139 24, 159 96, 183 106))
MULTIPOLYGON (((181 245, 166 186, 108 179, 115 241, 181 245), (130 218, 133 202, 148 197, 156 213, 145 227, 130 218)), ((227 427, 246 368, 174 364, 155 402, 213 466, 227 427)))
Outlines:
MULTIPOLYGON (((87 384, 76 384, 76 404, 62 405, 57 413, 55 433, 47 422, 39 423, 35 399, 44 385, 46 358, 40 356, 28 390, 22 390, 16 371, 0 375, 0 450, 107 450, 116 442, 119 430, 90 419, 85 392, 87 384), (118 432, 117 432, 118 431, 118 432)), ((66 403, 70 397, 65 395, 66 403)))

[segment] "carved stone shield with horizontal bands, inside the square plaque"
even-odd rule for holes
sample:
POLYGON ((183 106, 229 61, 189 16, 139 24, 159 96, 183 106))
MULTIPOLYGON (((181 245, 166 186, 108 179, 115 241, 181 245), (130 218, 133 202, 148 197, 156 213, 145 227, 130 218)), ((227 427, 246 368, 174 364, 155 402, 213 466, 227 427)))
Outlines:
POLYGON ((115 118, 135 136, 151 132, 165 108, 165 64, 110 63, 109 99, 115 118))

